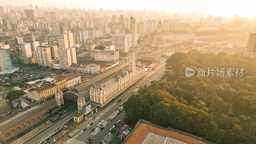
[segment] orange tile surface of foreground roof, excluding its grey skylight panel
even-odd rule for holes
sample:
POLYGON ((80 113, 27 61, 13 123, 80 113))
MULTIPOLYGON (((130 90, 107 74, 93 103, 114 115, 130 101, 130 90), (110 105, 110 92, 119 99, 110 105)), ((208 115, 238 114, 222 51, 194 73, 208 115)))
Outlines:
MULTIPOLYGON (((179 140, 184 143, 188 144, 206 144, 207 142, 204 142, 202 138, 200 137, 196 138, 193 136, 189 136, 187 134, 183 134, 180 132, 176 132, 173 130, 166 130, 160 127, 153 126, 151 124, 146 124, 144 122, 141 122, 144 120, 140 120, 139 125, 132 131, 130 136, 124 141, 124 144, 141 144, 144 139, 147 137, 148 132, 152 132, 155 134, 158 134, 163 137, 172 138, 174 140, 179 140)), ((150 123, 150 122, 148 122, 150 123)), ((212 142, 211 142, 212 143, 212 142)))

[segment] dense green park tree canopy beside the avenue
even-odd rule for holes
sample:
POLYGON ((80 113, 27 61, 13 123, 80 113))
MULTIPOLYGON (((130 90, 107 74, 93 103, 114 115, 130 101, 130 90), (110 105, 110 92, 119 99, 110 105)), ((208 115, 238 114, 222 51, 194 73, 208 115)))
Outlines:
POLYGON ((255 143, 255 61, 192 50, 175 53, 166 62, 160 81, 144 85, 124 103, 128 124, 144 119, 216 143, 255 143), (195 72, 197 68, 244 68, 244 73, 238 77, 196 73, 186 77, 186 67, 195 72), (230 104, 233 114, 228 115, 230 104))

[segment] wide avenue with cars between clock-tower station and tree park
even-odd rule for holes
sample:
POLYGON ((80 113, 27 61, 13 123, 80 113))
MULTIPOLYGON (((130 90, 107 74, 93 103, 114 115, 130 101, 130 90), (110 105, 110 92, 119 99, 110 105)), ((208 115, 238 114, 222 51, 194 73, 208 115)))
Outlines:
POLYGON ((124 111, 122 111, 119 115, 116 116, 113 121, 107 125, 106 120, 108 118, 112 118, 115 114, 117 114, 118 110, 116 108, 122 108, 120 106, 121 103, 123 103, 125 100, 127 100, 132 94, 136 93, 139 90, 140 86, 143 86, 144 84, 150 84, 151 81, 153 80, 159 80, 163 75, 165 71, 165 66, 163 64, 160 64, 159 66, 156 67, 156 70, 152 70, 149 72, 146 76, 142 77, 138 82, 134 84, 134 86, 126 89, 123 94, 119 95, 116 97, 116 100, 114 102, 108 103, 105 108, 100 109, 99 112, 94 113, 95 119, 93 117, 90 117, 87 121, 84 121, 82 124, 80 124, 78 128, 80 131, 82 131, 84 128, 87 128, 84 133, 79 134, 80 131, 78 131, 75 136, 72 138, 69 138, 67 136, 64 137, 63 140, 60 140, 58 143, 70 143, 70 144, 78 144, 78 143, 85 143, 86 138, 91 137, 93 139, 94 143, 97 143, 100 140, 103 140, 108 135, 108 130, 114 126, 114 124, 124 116, 124 111), (138 87, 136 87, 138 85, 138 87), (119 103, 117 103, 117 100, 122 99, 119 103), (104 125, 104 129, 100 130, 97 126, 100 121, 104 120, 102 125, 104 125), (93 123, 92 126, 89 124, 93 123), (109 126, 109 129, 108 129, 109 126), (91 132, 92 128, 95 128, 94 132, 91 132))

